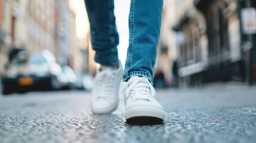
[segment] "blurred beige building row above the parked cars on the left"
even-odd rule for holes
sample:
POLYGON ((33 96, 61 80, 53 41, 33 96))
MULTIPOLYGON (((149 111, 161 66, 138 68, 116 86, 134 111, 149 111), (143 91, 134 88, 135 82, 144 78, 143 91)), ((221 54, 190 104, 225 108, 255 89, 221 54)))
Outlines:
POLYGON ((72 0, 0 0, 0 71, 13 49, 48 49, 61 65, 75 66, 75 17, 72 0))

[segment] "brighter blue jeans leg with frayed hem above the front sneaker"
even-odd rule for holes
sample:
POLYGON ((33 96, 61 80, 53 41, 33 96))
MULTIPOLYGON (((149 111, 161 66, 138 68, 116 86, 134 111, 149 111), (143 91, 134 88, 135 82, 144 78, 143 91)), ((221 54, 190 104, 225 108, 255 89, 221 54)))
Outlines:
POLYGON ((129 47, 123 80, 144 76, 153 83, 163 0, 131 0, 129 47))

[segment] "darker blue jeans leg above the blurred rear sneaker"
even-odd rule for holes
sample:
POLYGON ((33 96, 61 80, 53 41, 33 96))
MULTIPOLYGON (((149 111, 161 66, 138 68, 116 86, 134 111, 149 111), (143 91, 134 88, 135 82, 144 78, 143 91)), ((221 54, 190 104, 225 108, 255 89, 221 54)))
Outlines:
POLYGON ((119 36, 113 0, 85 0, 91 28, 94 60, 104 66, 118 66, 119 36))

